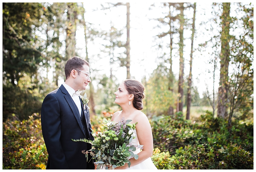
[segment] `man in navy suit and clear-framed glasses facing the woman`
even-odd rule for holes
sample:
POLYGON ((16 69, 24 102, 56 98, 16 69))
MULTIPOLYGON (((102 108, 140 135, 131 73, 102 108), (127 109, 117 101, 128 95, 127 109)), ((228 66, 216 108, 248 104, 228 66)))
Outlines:
POLYGON ((87 162, 82 153, 91 144, 71 140, 94 140, 88 107, 84 108, 75 93, 91 82, 89 63, 74 56, 65 65, 65 75, 66 82, 42 103, 42 134, 49 155, 46 169, 94 169, 93 161, 87 162))

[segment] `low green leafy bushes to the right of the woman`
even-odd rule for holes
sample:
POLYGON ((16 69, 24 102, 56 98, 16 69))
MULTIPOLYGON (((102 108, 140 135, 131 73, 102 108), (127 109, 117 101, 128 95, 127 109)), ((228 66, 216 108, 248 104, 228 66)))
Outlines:
POLYGON ((169 116, 152 118, 158 169, 253 169, 253 124, 232 123, 206 112, 200 124, 169 116))

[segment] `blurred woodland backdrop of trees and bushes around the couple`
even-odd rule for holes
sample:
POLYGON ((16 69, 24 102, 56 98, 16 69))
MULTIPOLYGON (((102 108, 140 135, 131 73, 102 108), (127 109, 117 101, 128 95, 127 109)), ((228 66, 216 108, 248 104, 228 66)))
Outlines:
MULTIPOLYGON (((130 3, 101 5, 95 10, 125 8, 126 16, 130 15, 130 3)), ((109 30, 101 30, 86 21, 86 8, 83 3, 3 3, 3 169, 45 169, 48 154, 41 134, 41 104, 65 80, 64 66, 71 56, 91 64, 94 83, 83 94, 90 99, 93 130, 101 131, 102 119, 111 119, 120 110, 114 104, 113 93, 120 84, 114 71, 124 67, 127 78, 134 77, 130 74, 130 21, 125 18, 122 29, 112 24, 109 30), (78 28, 84 30, 85 56, 76 44, 78 28), (101 51, 90 55, 88 44, 96 40, 102 43, 101 51), (106 58, 110 75, 95 67, 106 58)), ((191 82, 191 73, 183 71, 183 33, 191 33, 187 38, 191 42, 199 39, 193 27, 197 18, 183 12, 196 12, 196 3, 151 5, 151 10, 156 8, 164 14, 151 18, 157 21, 156 28, 163 28, 152 46, 159 51, 158 65, 141 81, 146 88, 142 111, 152 126, 156 167, 253 169, 253 5, 213 3, 212 18, 200 23, 200 27, 211 23, 205 30, 212 37, 196 48, 191 43, 191 59, 186 60, 191 65, 185 69, 191 71, 196 65, 194 52, 210 49, 212 68, 202 73, 210 73, 212 85, 219 86, 207 86, 202 95, 193 83, 195 78, 191 82), (179 60, 179 72, 173 71, 173 59, 179 60)))

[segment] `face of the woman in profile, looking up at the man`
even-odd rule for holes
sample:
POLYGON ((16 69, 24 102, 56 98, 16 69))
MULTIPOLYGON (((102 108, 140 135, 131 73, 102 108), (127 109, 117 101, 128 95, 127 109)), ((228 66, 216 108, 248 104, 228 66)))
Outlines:
POLYGON ((129 94, 124 83, 120 84, 118 90, 115 92, 115 103, 118 105, 129 104, 129 94))

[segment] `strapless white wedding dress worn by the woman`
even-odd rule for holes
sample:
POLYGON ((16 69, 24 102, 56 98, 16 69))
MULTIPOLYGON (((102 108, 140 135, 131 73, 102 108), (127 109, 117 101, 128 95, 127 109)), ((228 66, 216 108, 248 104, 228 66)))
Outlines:
MULTIPOLYGON (((137 138, 137 132, 136 130, 134 130, 134 134, 136 136, 135 139, 132 140, 132 144, 133 145, 139 145, 139 141, 137 138)), ((141 150, 140 149, 136 149, 136 151, 134 151, 134 154, 138 154, 141 150)), ((126 168, 126 170, 145 170, 145 169, 151 169, 151 170, 157 170, 156 166, 153 164, 151 157, 147 158, 146 160, 144 160, 143 162, 141 162, 140 164, 134 165, 130 168, 126 168)))

